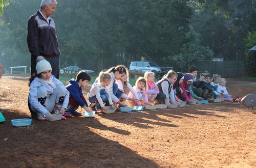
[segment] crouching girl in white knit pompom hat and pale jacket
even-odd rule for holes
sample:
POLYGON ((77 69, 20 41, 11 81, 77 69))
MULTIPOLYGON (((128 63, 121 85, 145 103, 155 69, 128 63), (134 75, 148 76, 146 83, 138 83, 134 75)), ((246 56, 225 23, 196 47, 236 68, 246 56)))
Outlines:
POLYGON ((44 57, 39 56, 36 61, 36 73, 29 79, 29 110, 40 121, 52 120, 52 114, 65 112, 69 91, 52 75, 52 67, 44 57))

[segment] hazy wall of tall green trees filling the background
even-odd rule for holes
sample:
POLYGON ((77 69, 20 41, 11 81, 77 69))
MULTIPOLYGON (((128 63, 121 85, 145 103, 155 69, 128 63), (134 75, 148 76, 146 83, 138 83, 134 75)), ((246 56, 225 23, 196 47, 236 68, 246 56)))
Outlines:
MULTIPOLYGON (((0 2, 7 2, 0 0, 0 2)), ((131 61, 160 66, 224 57, 239 60, 256 25, 256 0, 62 0, 56 24, 60 67, 102 70, 131 61)), ((0 59, 30 66, 27 21, 38 0, 8 0, 0 17, 0 59)))

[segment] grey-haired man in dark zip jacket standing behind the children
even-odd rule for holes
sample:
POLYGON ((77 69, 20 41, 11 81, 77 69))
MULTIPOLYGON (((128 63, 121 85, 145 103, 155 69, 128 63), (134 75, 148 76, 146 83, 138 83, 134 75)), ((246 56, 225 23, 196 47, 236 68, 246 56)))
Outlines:
POLYGON ((55 0, 42 0, 41 9, 30 16, 27 42, 31 52, 31 74, 35 73, 36 58, 43 56, 52 66, 52 74, 59 78, 59 43, 55 23, 50 16, 55 12, 55 0))

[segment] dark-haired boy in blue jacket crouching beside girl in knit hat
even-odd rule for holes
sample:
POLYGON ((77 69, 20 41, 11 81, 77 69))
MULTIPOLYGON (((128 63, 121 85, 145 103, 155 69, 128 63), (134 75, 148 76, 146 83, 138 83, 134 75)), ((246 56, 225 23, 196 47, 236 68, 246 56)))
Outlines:
POLYGON ((88 107, 86 98, 84 98, 82 94, 82 88, 86 88, 90 80, 91 76, 86 71, 80 71, 76 76, 76 80, 71 79, 69 81, 69 85, 66 86, 67 90, 70 92, 69 105, 63 116, 81 116, 82 114, 76 110, 79 106, 88 112, 92 112, 88 107))

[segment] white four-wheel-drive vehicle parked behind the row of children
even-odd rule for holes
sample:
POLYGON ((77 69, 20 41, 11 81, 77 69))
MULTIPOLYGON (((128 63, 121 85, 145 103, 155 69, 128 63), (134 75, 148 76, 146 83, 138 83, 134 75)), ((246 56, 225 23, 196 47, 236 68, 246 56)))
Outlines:
POLYGON ((172 69, 172 67, 159 67, 155 62, 149 61, 134 61, 131 62, 130 71, 152 71, 152 72, 165 72, 172 69))

